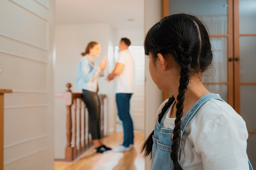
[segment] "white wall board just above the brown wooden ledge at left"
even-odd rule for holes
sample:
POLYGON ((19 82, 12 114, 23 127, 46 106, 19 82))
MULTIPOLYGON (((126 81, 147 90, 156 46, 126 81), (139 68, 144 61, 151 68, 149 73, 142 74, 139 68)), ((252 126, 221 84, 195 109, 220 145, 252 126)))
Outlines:
POLYGON ((19 90, 47 90, 47 65, 0 52, 0 87, 19 90))

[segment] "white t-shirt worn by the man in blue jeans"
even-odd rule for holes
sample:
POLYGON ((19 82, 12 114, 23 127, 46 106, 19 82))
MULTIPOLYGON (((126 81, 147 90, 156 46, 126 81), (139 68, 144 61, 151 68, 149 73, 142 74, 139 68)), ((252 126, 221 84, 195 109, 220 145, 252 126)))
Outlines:
POLYGON ((128 49, 119 52, 118 63, 124 64, 124 69, 115 78, 115 93, 133 93, 134 60, 128 49))

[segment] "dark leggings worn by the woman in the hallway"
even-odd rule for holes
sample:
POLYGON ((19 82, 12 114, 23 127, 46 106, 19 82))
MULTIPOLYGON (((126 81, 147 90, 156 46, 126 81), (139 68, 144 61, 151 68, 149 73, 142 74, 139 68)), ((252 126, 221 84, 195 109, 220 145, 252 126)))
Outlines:
POLYGON ((101 104, 98 94, 88 90, 82 90, 82 100, 86 104, 89 113, 90 131, 92 139, 101 139, 100 119, 101 104))

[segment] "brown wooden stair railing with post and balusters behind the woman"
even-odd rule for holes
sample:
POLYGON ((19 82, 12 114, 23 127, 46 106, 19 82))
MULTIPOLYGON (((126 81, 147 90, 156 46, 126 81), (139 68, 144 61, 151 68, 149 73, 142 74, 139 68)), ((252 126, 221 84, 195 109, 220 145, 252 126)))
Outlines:
MULTIPOLYGON (((64 94, 64 103, 66 106, 66 147, 65 147, 65 161, 72 161, 81 153, 92 146, 91 133, 89 129, 89 115, 87 107, 82 101, 81 93, 72 93, 70 83, 66 84, 68 88, 64 94), (73 113, 72 113, 73 109, 73 113), (78 142, 77 142, 77 110, 78 110, 78 142), (83 120, 82 120, 83 115, 83 120), (73 119, 72 119, 73 118, 73 119), (83 121, 83 127, 81 122, 83 121), (72 128, 73 124, 73 128, 72 128), (81 138, 83 132, 83 139, 81 138), (74 134, 72 136, 72 134, 74 134), (79 148, 78 148, 78 147, 79 148), (78 149, 77 149, 78 148, 78 149)), ((104 136, 104 99, 107 96, 100 94, 101 101, 101 134, 104 136)))

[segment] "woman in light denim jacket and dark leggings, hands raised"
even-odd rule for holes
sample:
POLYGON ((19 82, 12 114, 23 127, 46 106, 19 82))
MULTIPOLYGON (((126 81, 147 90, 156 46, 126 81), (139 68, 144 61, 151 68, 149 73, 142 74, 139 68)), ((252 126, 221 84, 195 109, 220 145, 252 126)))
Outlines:
POLYGON ((107 59, 97 67, 94 63, 94 57, 99 57, 101 47, 97 42, 90 42, 86 51, 82 52, 82 58, 77 64, 76 88, 82 89, 82 100, 86 104, 90 131, 92 135, 95 151, 103 153, 111 148, 105 146, 101 139, 100 117, 101 105, 98 97, 98 79, 100 74, 105 70, 107 59))

